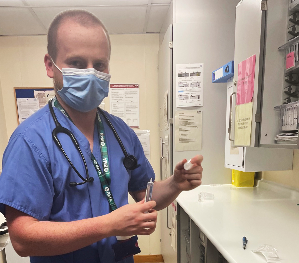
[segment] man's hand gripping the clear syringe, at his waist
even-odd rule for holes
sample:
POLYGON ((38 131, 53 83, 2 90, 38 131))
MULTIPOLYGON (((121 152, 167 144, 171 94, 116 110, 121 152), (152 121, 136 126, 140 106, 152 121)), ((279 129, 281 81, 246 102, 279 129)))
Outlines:
POLYGON ((155 201, 127 204, 110 213, 113 236, 149 235, 156 229, 157 211, 155 201), (149 213, 144 213, 149 211, 149 213))

